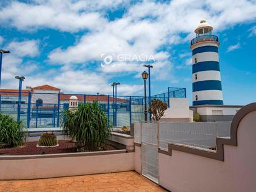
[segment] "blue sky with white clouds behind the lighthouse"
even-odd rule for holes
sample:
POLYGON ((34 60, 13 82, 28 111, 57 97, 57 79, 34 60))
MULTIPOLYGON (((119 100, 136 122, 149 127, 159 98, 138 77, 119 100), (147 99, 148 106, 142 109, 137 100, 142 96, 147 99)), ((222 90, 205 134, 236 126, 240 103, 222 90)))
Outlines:
POLYGON ((168 86, 187 88, 191 103, 190 40, 201 19, 219 36, 224 104, 256 100, 255 1, 71 1, 0 2, 2 88, 52 85, 65 93, 142 96, 147 62, 116 55, 153 55, 152 94, 168 86), (103 57, 115 55, 111 65, 103 57))

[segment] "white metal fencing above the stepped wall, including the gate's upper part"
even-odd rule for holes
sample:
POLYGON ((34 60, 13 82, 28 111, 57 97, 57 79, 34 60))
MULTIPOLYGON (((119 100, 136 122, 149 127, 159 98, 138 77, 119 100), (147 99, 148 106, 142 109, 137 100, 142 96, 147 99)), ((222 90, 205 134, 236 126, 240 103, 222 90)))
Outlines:
POLYGON ((231 122, 141 122, 134 124, 134 139, 140 143, 141 139, 147 141, 158 134, 160 149, 168 149, 168 143, 171 143, 216 150, 216 138, 230 137, 230 127, 231 122), (152 125, 155 130, 152 129, 152 125), (140 137, 142 127, 144 129, 140 137))

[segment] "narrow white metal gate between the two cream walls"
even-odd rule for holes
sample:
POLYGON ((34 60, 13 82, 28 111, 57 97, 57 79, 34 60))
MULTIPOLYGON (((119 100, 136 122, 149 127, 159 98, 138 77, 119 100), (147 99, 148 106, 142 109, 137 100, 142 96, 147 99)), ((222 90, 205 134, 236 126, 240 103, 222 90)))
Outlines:
POLYGON ((158 124, 143 122, 141 130, 142 175, 158 183, 158 124))

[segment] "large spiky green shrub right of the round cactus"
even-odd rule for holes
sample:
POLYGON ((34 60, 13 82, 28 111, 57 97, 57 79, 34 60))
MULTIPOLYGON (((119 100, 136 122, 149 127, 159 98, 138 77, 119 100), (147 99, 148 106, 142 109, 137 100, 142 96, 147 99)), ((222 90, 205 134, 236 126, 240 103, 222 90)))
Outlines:
POLYGON ((107 116, 96 102, 64 111, 63 131, 75 141, 78 150, 99 149, 101 144, 106 144, 111 134, 107 116))

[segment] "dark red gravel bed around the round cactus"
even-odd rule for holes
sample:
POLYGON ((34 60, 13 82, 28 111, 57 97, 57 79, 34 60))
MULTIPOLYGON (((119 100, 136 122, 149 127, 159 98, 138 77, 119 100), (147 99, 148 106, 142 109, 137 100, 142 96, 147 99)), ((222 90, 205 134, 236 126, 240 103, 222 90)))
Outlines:
MULTIPOLYGON (((20 147, 12 147, 0 149, 0 155, 40 155, 40 154, 55 154, 55 153, 72 153, 75 142, 69 140, 59 140, 57 147, 37 147, 37 142, 25 142, 20 147)), ((116 150, 116 147, 105 145, 103 150, 116 150)), ((76 152, 74 152, 76 153, 76 152)))

